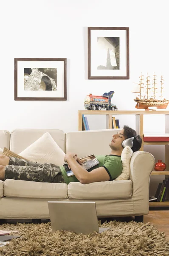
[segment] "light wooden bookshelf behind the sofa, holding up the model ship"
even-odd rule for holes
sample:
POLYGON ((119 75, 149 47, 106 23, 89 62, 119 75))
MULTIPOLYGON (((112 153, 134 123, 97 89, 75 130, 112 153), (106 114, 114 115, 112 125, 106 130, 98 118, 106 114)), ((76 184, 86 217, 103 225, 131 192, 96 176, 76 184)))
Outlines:
MULTIPOLYGON (((144 142, 144 115, 164 115, 165 116, 165 133, 169 133, 169 111, 93 111, 79 110, 79 131, 82 131, 82 114, 84 115, 106 115, 108 119, 108 129, 112 129, 112 117, 115 115, 135 115, 135 130, 142 138, 140 150, 144 151, 144 145, 165 145, 165 163, 169 166, 169 141, 144 142)), ((166 175, 169 177, 169 171, 163 172, 152 171, 151 175, 166 175)), ((149 207, 169 207, 169 201, 165 202, 149 202, 149 207)))

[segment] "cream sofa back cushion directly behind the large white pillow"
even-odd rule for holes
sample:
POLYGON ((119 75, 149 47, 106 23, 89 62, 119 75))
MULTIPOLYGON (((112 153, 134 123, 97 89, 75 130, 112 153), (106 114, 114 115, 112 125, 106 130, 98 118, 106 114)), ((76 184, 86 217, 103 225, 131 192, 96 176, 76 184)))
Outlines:
MULTIPOLYGON (((11 131, 11 151, 19 154, 46 132, 51 134, 57 145, 65 152, 65 134, 62 130, 55 129, 16 129, 11 131)), ((0 147, 3 148, 1 145, 0 147)), ((6 146, 6 148, 8 147, 6 146)))

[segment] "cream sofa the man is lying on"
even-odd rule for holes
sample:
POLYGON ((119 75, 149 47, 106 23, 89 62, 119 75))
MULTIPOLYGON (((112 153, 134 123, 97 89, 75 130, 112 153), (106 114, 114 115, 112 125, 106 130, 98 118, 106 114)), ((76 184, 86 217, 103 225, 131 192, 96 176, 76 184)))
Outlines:
MULTIPOLYGON (((117 129, 76 131, 16 129, 0 131, 0 148, 19 154, 45 132, 49 132, 64 152, 110 154, 109 143, 117 129)), ((155 166, 152 154, 137 151, 130 160, 130 179, 81 184, 38 183, 0 180, 0 219, 48 219, 48 201, 95 201, 99 218, 135 216, 142 221, 149 213, 149 178, 155 166)))

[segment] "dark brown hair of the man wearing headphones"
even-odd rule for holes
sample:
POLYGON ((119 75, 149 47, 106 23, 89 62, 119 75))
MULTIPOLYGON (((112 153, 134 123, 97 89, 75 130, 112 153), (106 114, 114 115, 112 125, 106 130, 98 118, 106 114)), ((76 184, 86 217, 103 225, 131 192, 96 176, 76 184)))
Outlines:
MULTIPOLYGON (((128 125, 124 125, 124 137, 126 139, 131 138, 131 137, 135 137, 135 135, 137 135, 136 131, 133 130, 132 128, 130 128, 128 125)), ((137 137, 133 140, 133 146, 132 146, 132 151, 138 151, 141 148, 141 143, 142 143, 142 139, 140 137, 140 135, 137 135, 137 137)))

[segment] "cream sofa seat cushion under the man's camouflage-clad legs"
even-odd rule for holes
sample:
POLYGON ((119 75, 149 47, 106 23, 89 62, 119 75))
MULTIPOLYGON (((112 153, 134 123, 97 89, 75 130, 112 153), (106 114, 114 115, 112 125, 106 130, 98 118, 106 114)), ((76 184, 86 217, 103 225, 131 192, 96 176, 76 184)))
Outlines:
POLYGON ((7 179, 4 182, 4 196, 11 198, 68 198, 66 183, 43 183, 7 179))

